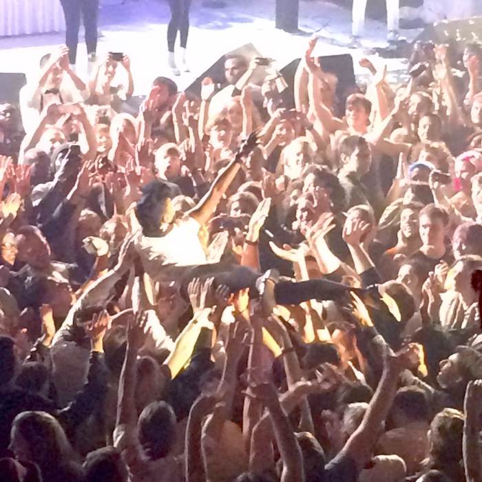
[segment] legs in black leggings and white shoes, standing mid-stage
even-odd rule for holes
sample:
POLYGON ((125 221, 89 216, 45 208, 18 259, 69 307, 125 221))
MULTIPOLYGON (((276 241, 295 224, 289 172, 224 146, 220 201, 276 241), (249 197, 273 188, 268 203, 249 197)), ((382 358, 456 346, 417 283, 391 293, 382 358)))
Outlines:
POLYGON ((191 0, 169 0, 169 8, 171 8, 171 21, 169 21, 167 26, 168 61, 173 74, 180 75, 176 65, 176 57, 174 56, 174 45, 178 32, 180 32, 181 68, 183 72, 189 72, 189 67, 186 63, 186 45, 187 36, 189 35, 189 8, 191 8, 191 0))

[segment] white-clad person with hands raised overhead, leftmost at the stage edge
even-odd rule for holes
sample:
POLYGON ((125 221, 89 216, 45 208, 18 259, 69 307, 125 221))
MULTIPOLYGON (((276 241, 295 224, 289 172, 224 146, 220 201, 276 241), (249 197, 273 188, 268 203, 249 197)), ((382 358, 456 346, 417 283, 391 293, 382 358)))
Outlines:
POLYGON ((39 78, 24 85, 19 93, 23 130, 28 134, 39 124, 43 108, 51 103, 75 103, 89 96, 87 85, 69 65, 69 50, 65 45, 40 61, 39 78))

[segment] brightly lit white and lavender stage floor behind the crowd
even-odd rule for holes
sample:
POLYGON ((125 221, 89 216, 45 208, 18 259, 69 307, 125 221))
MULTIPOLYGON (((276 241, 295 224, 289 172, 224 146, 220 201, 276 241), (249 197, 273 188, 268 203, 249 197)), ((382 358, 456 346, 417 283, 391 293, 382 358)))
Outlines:
MULTIPOLYGON (((275 29, 275 0, 224 0, 225 8, 209 8, 208 1, 193 0, 188 53, 190 74, 176 77, 180 89, 187 87, 222 54, 253 43, 265 56, 276 59, 283 67, 302 56, 308 36, 291 35, 275 29)), ((362 70, 357 65, 366 56, 362 50, 346 45, 350 41, 351 12, 322 0, 300 1, 300 28, 317 32, 322 37, 315 54, 331 55, 351 53, 355 60, 355 73, 362 70)), ((98 54, 109 51, 129 54, 134 72, 135 94, 145 94, 153 78, 171 76, 166 63, 166 31, 169 6, 165 0, 101 0, 101 32, 98 54)), ((366 48, 385 45, 386 25, 367 19, 366 48)), ((411 40, 416 31, 406 31, 411 40), (411 38, 410 38, 411 37, 411 38)), ((43 54, 63 43, 63 34, 41 34, 0 39, 0 70, 25 72, 30 76, 43 54)), ((369 55, 370 56, 370 55, 369 55)), ((404 70, 400 59, 380 59, 370 56, 375 65, 386 62, 388 72, 398 74, 404 70)), ((85 45, 79 45, 77 72, 85 74, 87 61, 85 45)))

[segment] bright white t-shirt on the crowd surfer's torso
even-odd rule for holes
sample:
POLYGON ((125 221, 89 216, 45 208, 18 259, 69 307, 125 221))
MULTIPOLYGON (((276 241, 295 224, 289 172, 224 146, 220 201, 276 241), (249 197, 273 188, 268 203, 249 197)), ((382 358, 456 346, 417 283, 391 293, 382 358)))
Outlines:
POLYGON ((175 279, 188 267, 208 264, 199 229, 200 224, 194 218, 185 216, 164 236, 152 238, 140 233, 136 248, 152 280, 175 279))

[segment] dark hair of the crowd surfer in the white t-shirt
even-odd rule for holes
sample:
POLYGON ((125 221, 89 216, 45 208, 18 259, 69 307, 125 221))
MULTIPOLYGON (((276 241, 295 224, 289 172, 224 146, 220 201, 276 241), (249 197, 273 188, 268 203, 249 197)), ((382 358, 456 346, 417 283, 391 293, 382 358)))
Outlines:
POLYGON ((146 235, 157 233, 165 211, 165 201, 172 198, 173 189, 169 182, 156 179, 143 187, 143 193, 136 205, 136 218, 146 235))

